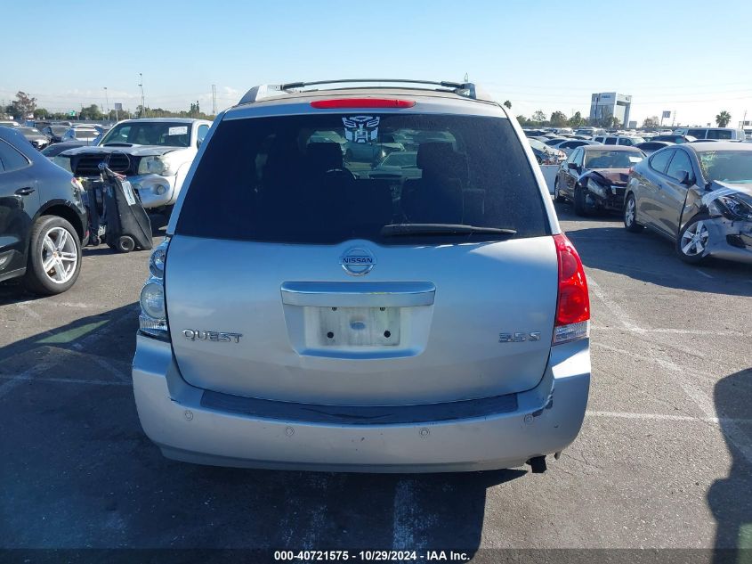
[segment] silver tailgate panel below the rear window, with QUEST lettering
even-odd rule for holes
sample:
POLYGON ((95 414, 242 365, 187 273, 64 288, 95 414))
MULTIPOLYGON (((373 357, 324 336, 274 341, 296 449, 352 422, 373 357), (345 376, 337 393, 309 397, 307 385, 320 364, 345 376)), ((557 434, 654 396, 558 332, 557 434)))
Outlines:
POLYGON ((165 281, 175 358, 194 386, 415 405, 533 388, 551 347, 557 277, 551 237, 381 246, 175 235, 165 281), (368 274, 345 272, 352 249, 373 257, 368 274))

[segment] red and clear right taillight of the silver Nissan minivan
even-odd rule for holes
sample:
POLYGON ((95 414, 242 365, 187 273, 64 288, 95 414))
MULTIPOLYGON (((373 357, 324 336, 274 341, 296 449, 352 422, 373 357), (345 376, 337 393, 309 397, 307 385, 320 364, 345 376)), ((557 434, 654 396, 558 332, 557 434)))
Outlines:
POLYGON ((590 332, 590 298, 577 249, 563 234, 554 235, 559 260, 559 295, 553 344, 584 339, 590 332))

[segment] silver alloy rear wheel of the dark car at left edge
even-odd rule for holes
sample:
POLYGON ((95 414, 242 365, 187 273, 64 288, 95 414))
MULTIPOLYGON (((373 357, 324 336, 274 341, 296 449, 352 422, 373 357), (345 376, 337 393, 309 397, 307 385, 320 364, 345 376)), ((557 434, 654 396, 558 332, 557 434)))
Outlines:
POLYGON ((30 240, 24 277, 28 291, 51 296, 76 283, 81 271, 81 241, 73 225, 62 217, 39 217, 30 240))

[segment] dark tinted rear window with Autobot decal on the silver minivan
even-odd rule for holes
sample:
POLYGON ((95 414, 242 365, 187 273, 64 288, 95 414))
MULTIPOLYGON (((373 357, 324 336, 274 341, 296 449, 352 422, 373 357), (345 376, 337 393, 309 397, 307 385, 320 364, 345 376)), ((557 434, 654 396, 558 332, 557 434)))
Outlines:
POLYGON ((507 119, 375 113, 223 121, 175 232, 319 244, 493 239, 382 234, 395 224, 550 233, 530 162, 507 119))

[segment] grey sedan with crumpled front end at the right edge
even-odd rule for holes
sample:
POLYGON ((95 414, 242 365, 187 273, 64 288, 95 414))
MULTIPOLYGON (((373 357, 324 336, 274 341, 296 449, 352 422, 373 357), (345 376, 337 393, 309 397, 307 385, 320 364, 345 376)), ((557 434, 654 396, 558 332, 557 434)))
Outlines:
POLYGON ((629 176, 627 231, 675 242, 685 262, 752 264, 752 145, 686 143, 656 151, 629 176))

